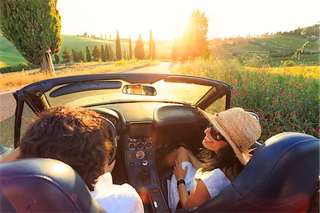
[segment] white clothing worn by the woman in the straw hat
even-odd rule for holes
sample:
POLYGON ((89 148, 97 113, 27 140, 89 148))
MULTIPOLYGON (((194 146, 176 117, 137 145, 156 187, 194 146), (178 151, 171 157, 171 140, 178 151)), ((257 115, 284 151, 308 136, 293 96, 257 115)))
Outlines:
MULTIPOLYGON (((213 197, 214 194, 220 192, 221 189, 230 185, 230 180, 225 176, 225 173, 220 169, 215 169, 207 172, 201 172, 201 168, 196 170, 191 162, 182 162, 183 169, 188 166, 188 171, 184 181, 186 182, 186 190, 192 192, 198 184, 198 180, 202 180, 206 185, 210 197, 213 197)), ((176 176, 172 175, 171 180, 168 180, 168 199, 169 199, 169 208, 171 212, 176 212, 176 206, 180 200, 178 187, 176 187, 176 176)))

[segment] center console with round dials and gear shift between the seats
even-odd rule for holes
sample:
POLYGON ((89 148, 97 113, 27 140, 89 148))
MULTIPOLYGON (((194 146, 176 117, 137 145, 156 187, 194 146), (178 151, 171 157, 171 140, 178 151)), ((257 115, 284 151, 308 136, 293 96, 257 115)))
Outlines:
POLYGON ((126 162, 129 180, 137 189, 144 202, 145 212, 169 212, 164 195, 159 187, 154 162, 154 142, 156 133, 152 131, 152 123, 129 123, 126 136, 126 162), (149 207, 151 209, 147 209, 149 207))

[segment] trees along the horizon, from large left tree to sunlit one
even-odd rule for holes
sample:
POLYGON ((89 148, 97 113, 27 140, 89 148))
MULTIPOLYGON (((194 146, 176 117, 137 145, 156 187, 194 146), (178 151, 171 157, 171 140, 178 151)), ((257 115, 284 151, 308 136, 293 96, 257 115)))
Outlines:
MULTIPOLYGON (((55 73, 50 56, 54 55, 56 61, 60 61, 56 55, 62 46, 61 16, 56 6, 57 0, 0 1, 0 28, 3 35, 16 46, 28 62, 39 65, 42 71, 53 75, 55 73)), ((171 58, 184 61, 189 58, 209 56, 207 32, 208 19, 205 14, 201 14, 198 10, 193 11, 188 28, 173 43, 171 58)), ((156 58, 156 47, 151 30, 149 53, 144 51, 141 35, 136 41, 134 50, 132 50, 130 38, 129 50, 122 51, 118 31, 115 51, 110 51, 110 49, 112 49, 110 46, 97 46, 92 52, 86 49, 85 52, 71 51, 68 53, 68 49, 65 48, 63 60, 67 62, 73 59, 75 61, 110 61, 132 57, 151 60, 156 58)))

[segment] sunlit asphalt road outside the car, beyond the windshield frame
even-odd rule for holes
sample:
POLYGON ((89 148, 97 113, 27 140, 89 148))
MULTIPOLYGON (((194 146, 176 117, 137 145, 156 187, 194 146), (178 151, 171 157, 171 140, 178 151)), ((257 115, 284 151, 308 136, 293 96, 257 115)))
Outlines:
MULTIPOLYGON (((132 73, 170 73, 170 62, 160 62, 158 66, 148 66, 144 68, 137 68, 129 71, 132 73)), ((13 93, 16 90, 0 90, 0 122, 6 120, 14 115, 16 110, 16 100, 13 93)), ((2 131, 2 130, 1 130, 2 131)))

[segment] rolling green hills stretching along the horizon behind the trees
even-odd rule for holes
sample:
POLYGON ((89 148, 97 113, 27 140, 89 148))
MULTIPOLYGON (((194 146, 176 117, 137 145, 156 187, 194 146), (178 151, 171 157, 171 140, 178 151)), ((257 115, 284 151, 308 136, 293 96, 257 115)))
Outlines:
MULTIPOLYGON (((287 60, 289 56, 298 49, 301 48, 304 43, 304 51, 313 50, 318 51, 316 54, 304 54, 304 58, 307 58, 312 63, 319 62, 319 38, 311 39, 308 36, 294 36, 294 35, 273 35, 262 36, 259 38, 233 38, 228 40, 209 41, 210 49, 214 56, 232 56, 236 54, 244 53, 272 53, 272 57, 284 57, 287 60), (309 41, 306 43, 306 41, 309 41)), ((97 45, 99 48, 101 45, 110 44, 115 51, 115 42, 106 41, 97 38, 87 38, 82 36, 63 35, 63 46, 58 54, 61 58, 63 49, 68 48, 75 49, 76 51, 82 50, 85 53, 85 46, 88 46, 90 51, 97 45)), ((122 50, 129 49, 129 42, 127 39, 122 39, 122 50)), ((132 51, 134 50, 134 41, 132 42, 132 51)), ((144 43, 145 53, 148 52, 149 43, 144 43)), ((171 57, 171 41, 158 41, 156 42, 156 55, 159 58, 171 57)), ((281 58, 278 58, 281 59, 281 58)), ((282 60, 282 59, 281 59, 282 60)), ((306 60, 306 62, 308 61, 306 60)), ((26 60, 16 50, 14 45, 4 37, 0 37, 0 67, 16 65, 26 60)))

